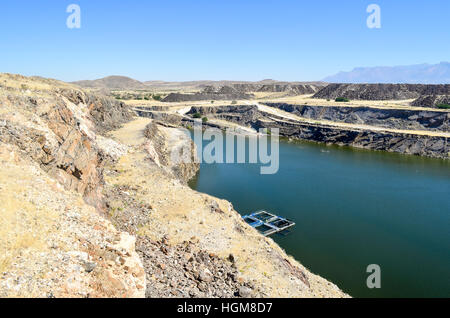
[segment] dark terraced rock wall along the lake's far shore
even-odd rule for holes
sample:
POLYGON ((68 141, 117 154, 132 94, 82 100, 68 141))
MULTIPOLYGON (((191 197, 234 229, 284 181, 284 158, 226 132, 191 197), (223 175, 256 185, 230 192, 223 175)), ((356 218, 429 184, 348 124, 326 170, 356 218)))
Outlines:
MULTIPOLYGON (((386 129, 449 131, 448 112, 289 104, 270 104, 270 106, 316 120, 372 125, 386 129)), ((265 113, 257 106, 249 105, 193 107, 190 114, 194 113, 228 120, 254 129, 279 128, 280 135, 289 138, 444 159, 448 159, 450 155, 446 137, 306 123, 265 113)), ((211 126, 209 122, 207 124, 211 126)))

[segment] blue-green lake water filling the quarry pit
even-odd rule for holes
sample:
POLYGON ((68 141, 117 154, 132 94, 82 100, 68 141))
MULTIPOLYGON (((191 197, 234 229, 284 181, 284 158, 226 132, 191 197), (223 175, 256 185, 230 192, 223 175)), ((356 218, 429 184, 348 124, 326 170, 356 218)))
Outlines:
POLYGON ((273 239, 354 297, 450 297, 450 162, 280 142, 280 169, 202 164, 190 186, 294 220, 273 239), (381 267, 369 289, 366 268, 381 267))

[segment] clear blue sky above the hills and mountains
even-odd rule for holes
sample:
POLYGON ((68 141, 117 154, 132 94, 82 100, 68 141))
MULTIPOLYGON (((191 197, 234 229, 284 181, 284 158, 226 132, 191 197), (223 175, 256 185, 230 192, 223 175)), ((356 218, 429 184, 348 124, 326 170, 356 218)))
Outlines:
POLYGON ((65 81, 319 80, 448 61, 448 0, 3 0, 0 72, 65 81), (81 29, 66 8, 81 7, 81 29), (366 26, 369 4, 381 29, 366 26))

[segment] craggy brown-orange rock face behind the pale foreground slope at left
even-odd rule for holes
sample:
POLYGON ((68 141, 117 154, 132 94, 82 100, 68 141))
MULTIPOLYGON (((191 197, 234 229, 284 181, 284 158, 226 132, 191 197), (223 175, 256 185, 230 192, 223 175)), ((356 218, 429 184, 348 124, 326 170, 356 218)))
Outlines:
POLYGON ((128 108, 57 81, 2 78, 0 141, 18 146, 88 202, 101 201, 102 162, 120 147, 100 133, 128 121, 128 108))

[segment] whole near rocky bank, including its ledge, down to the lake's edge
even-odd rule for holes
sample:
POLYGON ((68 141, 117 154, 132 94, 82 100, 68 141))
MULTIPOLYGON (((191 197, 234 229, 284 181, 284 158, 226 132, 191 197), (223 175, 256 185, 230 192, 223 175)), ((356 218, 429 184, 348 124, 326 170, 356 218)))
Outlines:
POLYGON ((347 296, 186 186, 183 131, 58 81, 0 85, 0 296, 347 296))

